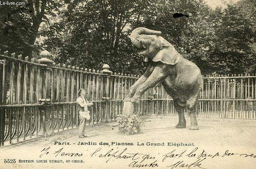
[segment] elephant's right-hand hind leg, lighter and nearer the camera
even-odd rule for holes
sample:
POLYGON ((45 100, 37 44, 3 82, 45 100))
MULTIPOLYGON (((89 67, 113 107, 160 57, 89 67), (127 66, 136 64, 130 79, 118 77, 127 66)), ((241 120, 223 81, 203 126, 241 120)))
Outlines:
POLYGON ((187 109, 189 110, 189 116, 190 116, 190 122, 191 122, 189 130, 199 130, 197 119, 195 116, 197 100, 198 100, 198 95, 195 95, 189 98, 189 100, 187 100, 187 109))

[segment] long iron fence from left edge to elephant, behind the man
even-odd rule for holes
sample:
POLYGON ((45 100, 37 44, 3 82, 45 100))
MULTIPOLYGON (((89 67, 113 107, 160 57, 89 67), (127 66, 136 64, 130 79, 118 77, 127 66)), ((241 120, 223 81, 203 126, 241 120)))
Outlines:
MULTIPOLYGON (((135 75, 112 73, 109 67, 96 71, 42 64, 42 59, 35 63, 34 58, 29 61, 28 57, 16 57, 15 53, 9 56, 8 51, 0 55, 0 60, 1 145, 76 128, 79 118, 76 98, 80 88, 86 89, 86 97, 94 103, 86 124, 115 120, 122 113, 126 91, 138 79, 135 75)), ((160 97, 153 99, 152 92, 153 89, 147 91, 141 104, 135 107, 137 114, 154 112, 154 102, 160 101, 160 97)), ((167 97, 163 88, 161 92, 167 97)), ((162 104, 157 112, 173 112, 170 105, 162 104)))

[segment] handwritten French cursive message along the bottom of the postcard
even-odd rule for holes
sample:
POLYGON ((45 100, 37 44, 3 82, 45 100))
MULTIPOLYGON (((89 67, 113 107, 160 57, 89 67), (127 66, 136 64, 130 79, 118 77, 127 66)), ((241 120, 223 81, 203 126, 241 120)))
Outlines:
MULTIPOLYGON (((209 152, 207 150, 199 150, 198 147, 194 149, 187 150, 169 150, 168 153, 155 152, 141 153, 140 151, 134 151, 134 149, 129 148, 110 148, 110 147, 98 147, 92 152, 88 153, 87 156, 83 153, 78 153, 77 151, 67 152, 64 148, 52 149, 51 147, 45 147, 40 151, 40 158, 43 156, 55 156, 55 157, 81 157, 83 160, 89 156, 89 158, 98 158, 96 161, 102 160, 105 163, 112 165, 115 160, 122 160, 122 163, 127 163, 126 165, 130 168, 168 168, 168 169, 188 169, 188 168, 198 168, 206 169, 207 162, 211 159, 221 159, 221 158, 232 158, 233 156, 246 158, 248 160, 253 160, 256 158, 255 153, 237 153, 232 150, 224 151, 214 151, 209 152), (177 160, 179 159, 179 160, 177 160)), ((59 160, 59 158, 58 158, 59 160)), ((58 163, 58 160, 51 160, 54 163, 58 163)), ((64 163, 67 159, 59 160, 60 163, 64 163)), ((211 161, 212 163, 212 161, 211 161)), ((120 166, 122 168, 122 166, 120 166)))

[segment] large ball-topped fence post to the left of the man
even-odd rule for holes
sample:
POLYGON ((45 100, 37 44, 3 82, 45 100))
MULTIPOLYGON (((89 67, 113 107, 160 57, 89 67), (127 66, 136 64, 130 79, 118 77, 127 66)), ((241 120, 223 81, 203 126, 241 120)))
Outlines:
MULTIPOLYGON (((43 50, 40 53, 40 59, 38 59, 38 63, 45 64, 47 66, 51 66, 52 63, 54 63, 50 59, 51 53, 49 53, 47 50, 43 50)), ((49 99, 51 98, 50 93, 50 84, 51 84, 51 70, 45 69, 44 72, 42 72, 42 99, 49 99)), ((41 91, 39 91, 41 92, 41 91)), ((44 100, 46 102, 46 100, 44 100)), ((42 114, 40 115, 40 120, 43 124, 43 132, 42 135, 47 136, 50 132, 50 113, 51 113, 51 106, 45 107, 45 109, 42 109, 42 114), (42 118, 41 118, 42 117, 42 118), (47 133, 48 132, 48 133, 47 133)), ((53 118, 53 116, 52 116, 53 118)), ((54 126, 53 126, 54 129, 54 126)))

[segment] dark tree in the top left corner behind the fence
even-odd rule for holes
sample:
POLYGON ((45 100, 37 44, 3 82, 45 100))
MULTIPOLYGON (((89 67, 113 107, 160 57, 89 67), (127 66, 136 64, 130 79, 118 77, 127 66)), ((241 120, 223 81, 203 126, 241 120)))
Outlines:
POLYGON ((31 57, 37 49, 35 39, 40 24, 56 15, 61 4, 60 0, 28 0, 25 5, 0 6, 0 48, 31 57))

